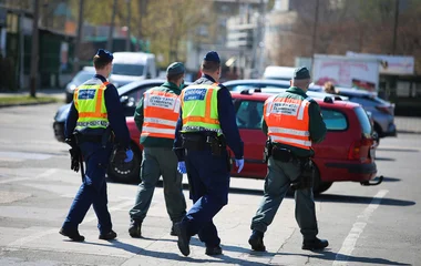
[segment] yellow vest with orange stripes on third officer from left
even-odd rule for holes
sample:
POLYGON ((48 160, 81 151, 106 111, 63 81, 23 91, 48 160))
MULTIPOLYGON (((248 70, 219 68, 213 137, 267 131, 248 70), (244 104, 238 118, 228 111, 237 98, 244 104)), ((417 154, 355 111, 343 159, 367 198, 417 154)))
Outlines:
POLYGON ((215 131, 222 134, 218 119, 218 83, 193 84, 182 91, 182 132, 215 131))

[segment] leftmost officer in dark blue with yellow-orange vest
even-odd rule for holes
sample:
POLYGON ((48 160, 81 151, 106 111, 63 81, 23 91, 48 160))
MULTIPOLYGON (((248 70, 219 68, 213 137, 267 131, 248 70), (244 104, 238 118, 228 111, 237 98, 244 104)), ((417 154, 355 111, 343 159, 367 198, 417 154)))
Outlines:
POLYGON ((86 173, 70 207, 60 234, 72 241, 83 242, 78 226, 93 205, 97 217, 100 239, 114 239, 111 216, 107 209, 105 172, 112 153, 112 135, 124 151, 125 162, 133 158, 130 134, 125 123, 117 90, 106 76, 112 70, 113 55, 100 49, 93 58, 96 74, 74 91, 73 102, 65 121, 64 134, 72 146, 78 145, 86 173))

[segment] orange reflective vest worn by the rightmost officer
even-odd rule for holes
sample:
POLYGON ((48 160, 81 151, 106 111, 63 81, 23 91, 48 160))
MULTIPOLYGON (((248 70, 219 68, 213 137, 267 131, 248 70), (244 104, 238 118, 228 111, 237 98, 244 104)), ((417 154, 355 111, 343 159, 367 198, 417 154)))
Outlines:
POLYGON ((308 108, 311 98, 275 95, 266 100, 264 117, 273 142, 311 149, 308 108))

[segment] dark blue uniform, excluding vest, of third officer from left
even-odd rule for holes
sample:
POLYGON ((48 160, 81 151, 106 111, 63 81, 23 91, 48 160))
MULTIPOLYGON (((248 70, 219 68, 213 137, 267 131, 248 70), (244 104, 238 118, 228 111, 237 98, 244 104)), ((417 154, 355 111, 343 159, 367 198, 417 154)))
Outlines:
MULTIPOLYGON (((213 84, 215 80, 204 74, 193 84, 213 84)), ((218 90, 218 120, 227 145, 236 158, 243 158, 244 144, 236 124, 236 114, 228 89, 219 84, 218 90)), ((213 217, 228 203, 229 190, 229 158, 226 151, 220 156, 212 155, 209 147, 203 151, 189 151, 185 154, 182 149, 181 130, 183 126, 181 112, 175 132, 174 151, 178 161, 185 161, 191 185, 191 200, 194 205, 183 218, 182 224, 187 234, 198 234, 206 247, 219 246, 213 217)))

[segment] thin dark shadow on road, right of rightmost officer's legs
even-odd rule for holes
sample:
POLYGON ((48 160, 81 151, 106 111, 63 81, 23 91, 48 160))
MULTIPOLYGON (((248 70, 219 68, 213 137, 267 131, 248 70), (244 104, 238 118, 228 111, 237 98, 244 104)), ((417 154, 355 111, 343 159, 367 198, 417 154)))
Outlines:
MULTIPOLYGON (((353 203, 353 204, 370 204, 373 197, 370 196, 349 196, 349 195, 332 195, 332 194, 321 194, 315 197, 316 202, 337 202, 337 203, 353 203)), ((415 202, 396 200, 383 197, 379 205, 389 206, 412 206, 415 202)))

